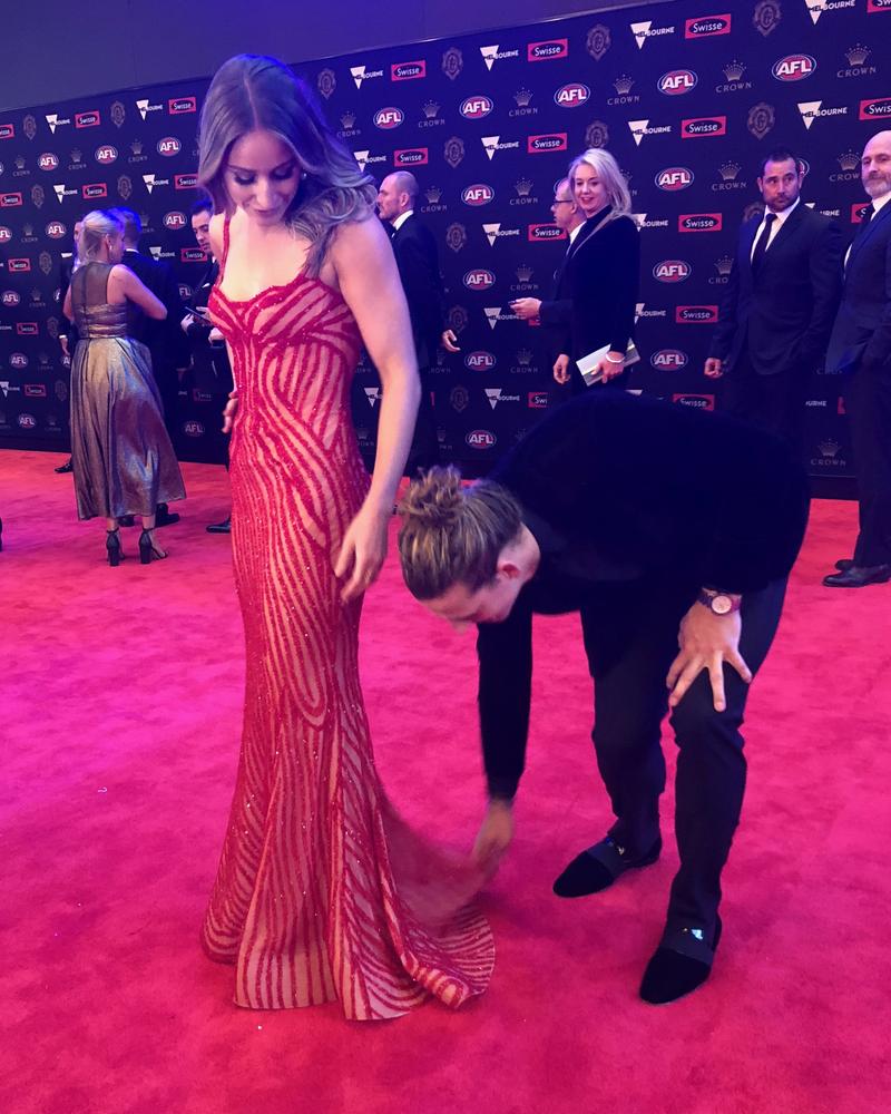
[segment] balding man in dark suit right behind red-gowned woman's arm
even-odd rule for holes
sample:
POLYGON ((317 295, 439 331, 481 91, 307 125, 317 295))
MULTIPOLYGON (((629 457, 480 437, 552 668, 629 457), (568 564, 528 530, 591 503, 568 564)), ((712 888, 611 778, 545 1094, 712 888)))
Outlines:
POLYGON ((407 471, 439 462, 439 441, 430 401, 429 371, 440 344, 458 352, 457 338, 446 328, 446 293, 433 233, 414 212, 418 179, 408 170, 388 175, 378 190, 378 212, 389 225, 399 277, 409 303, 411 331, 421 375, 421 404, 407 471))

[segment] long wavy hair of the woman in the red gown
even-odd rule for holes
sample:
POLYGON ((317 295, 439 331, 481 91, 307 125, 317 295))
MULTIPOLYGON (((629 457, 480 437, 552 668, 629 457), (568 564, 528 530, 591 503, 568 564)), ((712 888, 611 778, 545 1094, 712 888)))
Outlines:
POLYGON ((300 78, 275 58, 237 55, 214 75, 198 131, 198 183, 217 213, 232 212, 223 177, 229 150, 254 130, 272 131, 294 153, 302 175, 286 219, 310 241, 307 270, 317 272, 337 225, 373 215, 374 182, 300 78))

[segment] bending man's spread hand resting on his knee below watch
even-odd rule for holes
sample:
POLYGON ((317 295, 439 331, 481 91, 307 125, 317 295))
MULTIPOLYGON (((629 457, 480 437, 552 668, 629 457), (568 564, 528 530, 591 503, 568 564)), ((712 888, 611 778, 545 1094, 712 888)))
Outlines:
POLYGON ((716 712, 727 706, 724 696, 724 662, 732 665, 748 684, 752 671, 740 654, 742 620, 738 612, 715 615, 702 604, 694 604, 681 620, 677 644, 681 651, 672 662, 666 684, 672 690, 668 706, 676 707, 703 670, 708 670, 712 700, 716 712))

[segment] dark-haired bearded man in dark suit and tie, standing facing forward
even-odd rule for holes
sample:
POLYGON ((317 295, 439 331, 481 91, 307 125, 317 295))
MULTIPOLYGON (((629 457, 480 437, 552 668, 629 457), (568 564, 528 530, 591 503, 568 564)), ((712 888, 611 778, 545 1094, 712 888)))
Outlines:
POLYGON ((804 172, 785 148, 763 160, 764 215, 747 221, 705 374, 727 377, 726 409, 802 451, 807 381, 841 296, 841 229, 801 199, 804 172))

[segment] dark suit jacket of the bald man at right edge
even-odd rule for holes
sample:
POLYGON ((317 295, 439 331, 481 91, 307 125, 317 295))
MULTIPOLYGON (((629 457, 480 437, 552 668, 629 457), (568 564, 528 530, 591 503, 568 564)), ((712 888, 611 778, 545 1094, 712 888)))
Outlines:
POLYGON ((891 373, 891 202, 858 231, 851 244, 842 302, 826 352, 826 371, 858 369, 891 373))

